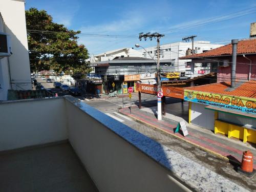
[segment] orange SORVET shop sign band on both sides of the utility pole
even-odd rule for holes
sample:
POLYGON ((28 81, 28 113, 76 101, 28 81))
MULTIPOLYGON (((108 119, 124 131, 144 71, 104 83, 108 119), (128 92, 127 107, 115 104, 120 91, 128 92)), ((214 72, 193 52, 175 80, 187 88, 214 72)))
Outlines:
MULTIPOLYGON (((137 91, 140 91, 142 93, 157 95, 157 86, 155 86, 155 85, 136 83, 136 86, 137 86, 137 88, 136 88, 137 91)), ((166 97, 174 97, 174 98, 179 98, 179 99, 184 98, 184 89, 183 88, 163 86, 161 88, 161 91, 163 92, 163 96, 166 96, 166 97)))

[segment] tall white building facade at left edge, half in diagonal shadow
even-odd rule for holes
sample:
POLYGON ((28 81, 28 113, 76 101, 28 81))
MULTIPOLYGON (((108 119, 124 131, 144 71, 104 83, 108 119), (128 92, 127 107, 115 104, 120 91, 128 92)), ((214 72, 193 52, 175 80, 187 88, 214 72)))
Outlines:
POLYGON ((10 52, 0 54, 0 100, 7 100, 9 89, 32 89, 24 1, 1 0, 0 34, 7 34, 10 52))

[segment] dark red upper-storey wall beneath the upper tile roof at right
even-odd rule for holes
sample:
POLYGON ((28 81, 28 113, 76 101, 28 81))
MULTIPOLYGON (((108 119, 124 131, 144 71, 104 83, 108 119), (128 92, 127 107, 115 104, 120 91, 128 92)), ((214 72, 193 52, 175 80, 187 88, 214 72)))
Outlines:
MULTIPOLYGON (((246 55, 249 59, 251 59, 251 63, 256 63, 256 56, 246 55)), ((221 57, 219 58, 221 59, 221 57)), ((226 59, 223 57, 223 59, 226 59)), ((229 57, 229 62, 232 62, 232 58, 229 57)), ((242 79, 248 80, 249 77, 249 68, 250 65, 246 65, 243 63, 250 63, 249 60, 244 58, 243 56, 237 57, 237 68, 236 68, 236 80, 241 81, 242 79), (240 62, 240 63, 239 63, 240 62)), ((218 81, 230 81, 231 78, 231 65, 229 67, 219 67, 218 68, 218 81)), ((256 65, 251 65, 251 80, 256 80, 256 65)))

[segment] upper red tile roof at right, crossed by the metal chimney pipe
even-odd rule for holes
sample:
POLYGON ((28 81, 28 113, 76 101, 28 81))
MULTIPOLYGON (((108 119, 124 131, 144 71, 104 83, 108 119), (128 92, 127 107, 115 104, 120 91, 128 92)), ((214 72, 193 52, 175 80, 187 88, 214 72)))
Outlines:
MULTIPOLYGON (((240 40, 238 42, 237 54, 244 54, 244 53, 256 54, 256 38, 240 40)), ((232 44, 228 44, 216 49, 206 51, 204 53, 198 53, 194 55, 180 57, 180 59, 189 59, 189 58, 197 58, 197 57, 215 57, 220 55, 231 55, 231 54, 232 54, 232 44)))

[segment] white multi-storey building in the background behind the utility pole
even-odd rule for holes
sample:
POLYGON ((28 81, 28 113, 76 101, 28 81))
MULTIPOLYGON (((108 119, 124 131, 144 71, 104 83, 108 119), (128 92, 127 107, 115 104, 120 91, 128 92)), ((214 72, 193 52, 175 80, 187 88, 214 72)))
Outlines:
MULTIPOLYGON (((221 47, 223 45, 211 44, 210 41, 194 41, 194 50, 195 53, 202 53, 211 49, 221 47)), ((191 59, 181 60, 179 57, 186 56, 186 51, 192 49, 192 42, 174 42, 170 44, 160 45, 160 60, 171 61, 175 63, 175 71, 177 72, 186 72, 187 76, 195 77, 200 74, 209 73, 208 66, 197 66, 195 65, 194 72, 191 72, 189 62, 191 59)), ((143 57, 157 59, 157 48, 148 47, 140 49, 143 53, 143 57), (146 50, 146 51, 145 51, 146 50)))

